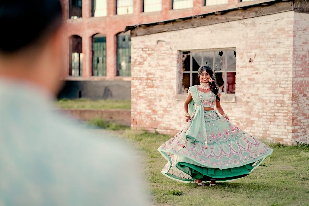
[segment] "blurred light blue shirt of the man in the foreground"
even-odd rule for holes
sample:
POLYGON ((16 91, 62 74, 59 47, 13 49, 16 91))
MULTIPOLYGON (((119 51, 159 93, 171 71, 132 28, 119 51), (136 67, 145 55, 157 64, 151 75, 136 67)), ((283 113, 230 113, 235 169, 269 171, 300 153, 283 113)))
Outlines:
POLYGON ((0 80, 0 206, 146 205, 136 155, 52 107, 43 90, 0 80))

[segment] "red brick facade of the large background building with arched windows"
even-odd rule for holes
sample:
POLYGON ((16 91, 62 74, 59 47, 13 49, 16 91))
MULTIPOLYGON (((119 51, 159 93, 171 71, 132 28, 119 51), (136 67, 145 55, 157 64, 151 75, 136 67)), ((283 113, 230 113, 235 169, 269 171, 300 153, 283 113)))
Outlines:
MULTIPOLYGON (((133 1, 133 14, 116 15, 116 0, 107 0, 107 16, 105 17, 91 17, 91 0, 82 1, 82 18, 68 19, 69 17, 69 1, 61 0, 64 8, 64 15, 66 19, 65 36, 67 45, 66 48, 66 65, 67 70, 63 75, 64 78, 69 76, 69 38, 72 35, 82 37, 83 44, 83 77, 74 78, 74 80, 89 79, 92 75, 91 65, 91 37, 97 33, 106 36, 107 48, 107 79, 115 79, 116 77, 116 35, 123 32, 128 25, 135 25, 141 23, 150 23, 156 21, 163 21, 167 19, 176 19, 184 16, 197 15, 218 10, 225 10, 248 4, 263 2, 257 0, 253 2, 240 2, 239 0, 228 0, 228 4, 217 6, 203 6, 203 0, 194 0, 193 8, 171 10, 172 0, 162 0, 162 11, 157 12, 142 12, 143 0, 133 1)), ((101 78, 105 79, 105 78, 101 78)), ((126 78, 128 80, 130 78, 126 78)), ((93 79, 91 79, 93 80, 93 79)))

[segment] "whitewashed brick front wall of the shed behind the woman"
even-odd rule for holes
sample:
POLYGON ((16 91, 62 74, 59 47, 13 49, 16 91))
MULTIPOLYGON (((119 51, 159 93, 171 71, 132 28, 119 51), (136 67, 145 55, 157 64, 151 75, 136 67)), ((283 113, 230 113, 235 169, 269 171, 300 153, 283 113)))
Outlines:
POLYGON ((185 124, 179 51, 236 48, 236 101, 222 94, 222 108, 253 136, 290 144, 293 25, 288 11, 132 37, 131 127, 175 134, 185 124))

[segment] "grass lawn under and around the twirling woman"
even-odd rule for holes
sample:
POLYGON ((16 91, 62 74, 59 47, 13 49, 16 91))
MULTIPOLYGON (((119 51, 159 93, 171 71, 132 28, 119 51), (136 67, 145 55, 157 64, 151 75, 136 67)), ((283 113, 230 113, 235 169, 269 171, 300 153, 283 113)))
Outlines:
POLYGON ((157 148, 170 136, 127 129, 121 138, 140 151, 154 205, 309 205, 309 145, 268 144, 272 155, 250 175, 201 187, 161 174, 167 161, 157 148))

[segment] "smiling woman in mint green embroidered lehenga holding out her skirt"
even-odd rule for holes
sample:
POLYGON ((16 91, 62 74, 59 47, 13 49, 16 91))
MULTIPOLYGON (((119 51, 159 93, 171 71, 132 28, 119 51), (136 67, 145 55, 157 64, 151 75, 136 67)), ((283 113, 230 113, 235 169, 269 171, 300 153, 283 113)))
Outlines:
POLYGON ((209 66, 198 77, 201 84, 189 88, 184 103, 186 126, 158 149, 168 161, 162 174, 201 186, 247 176, 273 149, 229 121, 209 66))

